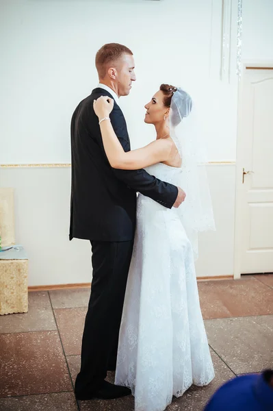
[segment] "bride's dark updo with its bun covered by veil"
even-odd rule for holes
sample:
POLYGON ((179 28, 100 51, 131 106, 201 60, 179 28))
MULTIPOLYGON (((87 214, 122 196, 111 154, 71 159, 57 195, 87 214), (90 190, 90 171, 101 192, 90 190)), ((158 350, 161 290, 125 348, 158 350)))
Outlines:
POLYGON ((173 127, 177 127, 192 111, 192 99, 182 88, 170 84, 161 84, 160 90, 164 94, 164 105, 171 109, 170 123, 173 127))

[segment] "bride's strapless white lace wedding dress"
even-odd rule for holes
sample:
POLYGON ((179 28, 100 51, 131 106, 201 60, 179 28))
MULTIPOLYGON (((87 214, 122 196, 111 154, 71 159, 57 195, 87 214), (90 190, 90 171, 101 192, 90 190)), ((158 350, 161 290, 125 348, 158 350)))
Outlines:
MULTIPOLYGON (((146 171, 179 184, 181 169, 160 163, 146 171)), ((138 196, 115 379, 131 388, 135 411, 164 411, 172 395, 214 377, 192 245, 180 214, 138 196)))

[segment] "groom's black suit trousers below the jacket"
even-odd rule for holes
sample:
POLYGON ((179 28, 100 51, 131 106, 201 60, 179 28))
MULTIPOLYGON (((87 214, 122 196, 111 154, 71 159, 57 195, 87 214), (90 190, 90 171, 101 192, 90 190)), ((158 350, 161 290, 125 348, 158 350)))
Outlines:
POLYGON ((133 240, 91 241, 93 279, 81 346, 76 395, 92 394, 116 366, 118 334, 133 240))

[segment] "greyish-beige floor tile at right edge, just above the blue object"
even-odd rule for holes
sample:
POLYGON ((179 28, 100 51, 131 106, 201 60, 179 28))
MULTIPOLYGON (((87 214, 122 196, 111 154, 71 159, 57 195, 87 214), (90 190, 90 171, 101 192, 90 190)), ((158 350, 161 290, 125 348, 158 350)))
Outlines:
POLYGON ((206 320, 209 344, 235 374, 259 373, 273 363, 273 315, 206 320))

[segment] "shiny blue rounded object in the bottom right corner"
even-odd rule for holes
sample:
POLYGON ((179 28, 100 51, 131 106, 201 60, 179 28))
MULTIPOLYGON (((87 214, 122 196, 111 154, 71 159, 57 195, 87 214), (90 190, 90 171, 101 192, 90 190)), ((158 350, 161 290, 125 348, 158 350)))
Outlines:
POLYGON ((273 411, 273 371, 231 379, 211 397, 204 411, 273 411))

